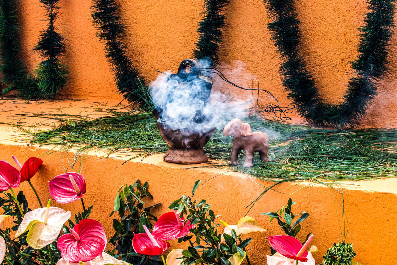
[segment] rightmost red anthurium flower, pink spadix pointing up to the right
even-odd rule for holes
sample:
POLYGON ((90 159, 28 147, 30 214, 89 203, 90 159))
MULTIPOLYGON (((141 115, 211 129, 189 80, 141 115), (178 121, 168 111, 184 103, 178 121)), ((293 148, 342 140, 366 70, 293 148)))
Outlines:
POLYGON ((297 261, 307 261, 306 248, 313 240, 314 235, 311 235, 304 245, 293 236, 269 236, 270 246, 278 253, 289 259, 297 261))

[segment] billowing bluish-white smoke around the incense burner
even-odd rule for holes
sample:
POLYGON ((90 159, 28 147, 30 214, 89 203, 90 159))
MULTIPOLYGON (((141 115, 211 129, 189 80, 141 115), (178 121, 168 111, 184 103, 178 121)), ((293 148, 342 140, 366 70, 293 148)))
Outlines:
MULTIPOLYGON (((198 64, 200 68, 210 68, 211 61, 200 59, 198 64)), ((219 67, 228 79, 240 82, 241 86, 257 80, 241 61, 234 61, 232 65, 222 63, 219 67)), ((201 74, 197 75, 193 74, 196 73, 193 68, 189 71, 192 73, 181 76, 173 72, 160 73, 150 83, 152 102, 160 112, 158 121, 172 130, 202 133, 214 127, 222 130, 231 119, 243 119, 248 115, 247 109, 255 102, 252 92, 237 98, 235 92, 241 89, 208 72, 212 70, 201 69, 201 74)))

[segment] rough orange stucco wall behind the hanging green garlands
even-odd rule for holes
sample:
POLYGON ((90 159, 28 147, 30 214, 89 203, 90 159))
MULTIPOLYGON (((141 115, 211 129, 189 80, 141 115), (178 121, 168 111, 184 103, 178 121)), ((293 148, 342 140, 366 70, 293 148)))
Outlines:
MULTIPOLYGON (((155 70, 175 71, 181 60, 191 57, 202 0, 119 0, 118 3, 127 26, 127 52, 147 81, 156 78, 155 70)), ((116 90, 110 65, 104 56, 104 45, 95 37, 90 6, 89 0, 60 2, 57 26, 67 39, 66 60, 70 68, 67 96, 118 103, 122 97, 116 90)), ((350 61, 357 56, 358 27, 363 25, 366 2, 297 0, 296 8, 302 22, 302 52, 316 85, 324 99, 340 102, 352 75, 350 61)), ((39 62, 31 49, 46 25, 44 12, 39 0, 21 0, 21 41, 31 70, 39 62)), ((270 90, 283 106, 288 106, 287 92, 281 86, 278 73, 280 61, 266 27, 270 20, 264 3, 261 0, 231 0, 225 15, 228 27, 220 60, 228 65, 234 60, 245 63, 244 73, 250 73, 248 83, 251 79, 259 81, 262 88, 270 90)), ((389 59, 391 72, 379 83, 379 94, 362 121, 366 126, 395 127, 396 45, 397 38, 393 37, 389 59)), ((229 78, 239 81, 232 76, 229 78)), ((235 89, 233 93, 242 94, 235 89)), ((267 96, 262 95, 262 98, 267 96)), ((301 120, 296 115, 292 117, 295 121, 301 120)))

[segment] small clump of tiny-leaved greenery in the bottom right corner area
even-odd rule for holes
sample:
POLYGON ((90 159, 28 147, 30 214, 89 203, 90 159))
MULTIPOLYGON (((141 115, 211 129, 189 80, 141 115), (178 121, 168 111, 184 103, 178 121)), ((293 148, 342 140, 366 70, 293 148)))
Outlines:
POLYGON ((339 242, 327 250, 322 265, 350 265, 355 255, 352 243, 339 242))

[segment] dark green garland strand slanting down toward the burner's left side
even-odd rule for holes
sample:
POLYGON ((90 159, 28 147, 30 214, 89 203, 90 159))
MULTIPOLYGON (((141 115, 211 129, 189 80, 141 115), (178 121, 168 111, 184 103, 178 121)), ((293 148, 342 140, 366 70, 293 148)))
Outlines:
POLYGON ((98 29, 96 36, 105 43, 106 57, 112 65, 119 92, 129 102, 139 102, 142 108, 148 108, 144 105, 147 102, 145 80, 139 76, 122 42, 125 27, 120 7, 115 0, 94 0, 91 8, 94 10, 91 17, 98 29))

